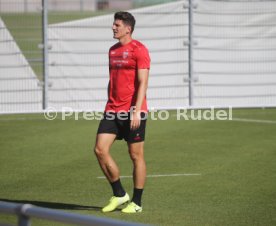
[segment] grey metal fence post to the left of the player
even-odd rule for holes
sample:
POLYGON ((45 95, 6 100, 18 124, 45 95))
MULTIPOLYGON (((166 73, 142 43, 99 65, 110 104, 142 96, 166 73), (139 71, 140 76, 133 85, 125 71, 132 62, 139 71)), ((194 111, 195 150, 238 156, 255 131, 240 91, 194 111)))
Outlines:
POLYGON ((48 107, 48 0, 42 0, 43 110, 48 107))

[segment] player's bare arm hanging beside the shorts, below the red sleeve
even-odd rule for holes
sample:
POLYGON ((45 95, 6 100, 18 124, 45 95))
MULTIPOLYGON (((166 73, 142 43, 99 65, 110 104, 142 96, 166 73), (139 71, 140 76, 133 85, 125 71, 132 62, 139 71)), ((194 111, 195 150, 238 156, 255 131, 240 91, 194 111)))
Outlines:
POLYGON ((143 101, 145 99, 147 88, 148 88, 148 78, 149 78, 149 69, 138 69, 138 90, 137 98, 135 103, 135 109, 132 112, 132 120, 130 121, 130 129, 135 130, 139 128, 141 123, 141 108, 143 101))

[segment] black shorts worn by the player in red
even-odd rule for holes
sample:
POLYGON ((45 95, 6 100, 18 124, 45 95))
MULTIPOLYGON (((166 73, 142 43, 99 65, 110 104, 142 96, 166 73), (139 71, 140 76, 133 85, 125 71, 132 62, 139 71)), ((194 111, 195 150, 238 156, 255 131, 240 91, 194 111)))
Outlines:
POLYGON ((125 114, 124 117, 118 117, 118 114, 116 113, 104 113, 97 134, 111 133, 117 135, 117 140, 124 139, 129 143, 142 142, 145 140, 146 118, 147 114, 141 113, 141 123, 139 128, 131 130, 129 114, 125 114))

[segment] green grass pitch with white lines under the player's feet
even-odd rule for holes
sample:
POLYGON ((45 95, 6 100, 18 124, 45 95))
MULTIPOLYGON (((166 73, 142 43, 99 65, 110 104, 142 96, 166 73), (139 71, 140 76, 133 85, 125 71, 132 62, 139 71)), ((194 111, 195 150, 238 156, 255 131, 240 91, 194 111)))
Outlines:
MULTIPOLYGON (((0 116, 0 199, 151 225, 276 225, 276 109, 240 109, 232 121, 149 120, 144 211, 100 212, 111 196, 92 152, 98 121, 0 116), (245 119, 249 121, 241 121, 245 119)), ((125 143, 112 155, 130 175, 125 143)), ((122 183, 132 194, 132 181, 122 183)), ((16 218, 0 214, 0 222, 16 218)), ((61 225, 34 219, 32 225, 61 225)))

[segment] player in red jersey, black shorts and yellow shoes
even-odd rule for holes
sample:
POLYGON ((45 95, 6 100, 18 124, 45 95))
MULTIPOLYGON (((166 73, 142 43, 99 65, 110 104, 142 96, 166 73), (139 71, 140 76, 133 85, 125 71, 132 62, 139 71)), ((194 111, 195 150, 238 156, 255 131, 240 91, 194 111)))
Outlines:
POLYGON ((109 181, 113 196, 103 212, 111 212, 128 203, 124 213, 142 211, 141 198, 146 180, 144 139, 147 116, 146 91, 150 69, 147 48, 132 39, 135 18, 128 12, 117 12, 112 26, 113 38, 118 43, 109 50, 108 101, 97 132, 95 154, 109 181), (133 162, 133 197, 124 190, 119 168, 110 155, 116 139, 127 142, 133 162))

